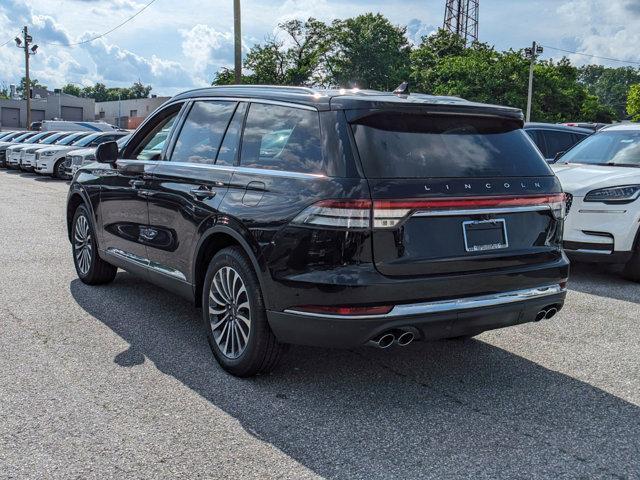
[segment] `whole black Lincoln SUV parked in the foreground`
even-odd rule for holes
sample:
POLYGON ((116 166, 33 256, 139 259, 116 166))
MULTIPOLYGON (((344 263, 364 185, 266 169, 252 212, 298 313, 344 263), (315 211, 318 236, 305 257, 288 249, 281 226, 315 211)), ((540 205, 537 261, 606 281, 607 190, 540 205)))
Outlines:
POLYGON ((72 181, 80 279, 202 306, 229 372, 284 345, 406 345, 552 317, 564 194, 519 110, 297 87, 176 96, 72 181), (120 157, 120 158, 117 158, 120 157))

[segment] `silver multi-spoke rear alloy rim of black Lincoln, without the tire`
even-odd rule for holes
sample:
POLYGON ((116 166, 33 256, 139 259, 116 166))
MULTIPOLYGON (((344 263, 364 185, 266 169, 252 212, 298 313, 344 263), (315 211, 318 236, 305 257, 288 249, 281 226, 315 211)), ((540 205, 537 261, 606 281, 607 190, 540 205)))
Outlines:
POLYGON ((231 359, 242 355, 251 332, 251 306, 244 281, 232 267, 222 267, 213 276, 209 322, 220 352, 231 359))

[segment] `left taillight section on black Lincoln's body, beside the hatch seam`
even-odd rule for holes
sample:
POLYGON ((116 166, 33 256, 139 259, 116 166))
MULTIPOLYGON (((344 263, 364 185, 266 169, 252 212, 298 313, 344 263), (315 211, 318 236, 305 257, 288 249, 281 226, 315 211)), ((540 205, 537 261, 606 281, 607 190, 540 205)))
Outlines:
POLYGON ((371 200, 322 200, 305 208, 292 223, 333 228, 370 228, 371 200))

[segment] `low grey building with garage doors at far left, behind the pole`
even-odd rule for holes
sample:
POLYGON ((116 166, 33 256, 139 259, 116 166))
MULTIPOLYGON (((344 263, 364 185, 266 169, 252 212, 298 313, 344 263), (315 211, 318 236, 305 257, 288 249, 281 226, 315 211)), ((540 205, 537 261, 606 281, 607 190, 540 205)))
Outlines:
MULTIPOLYGON (((61 92, 44 89, 34 91, 31 99, 31 121, 62 119, 74 122, 95 120, 93 98, 79 98, 61 92)), ((27 101, 0 100, 0 127, 27 128, 27 101)))

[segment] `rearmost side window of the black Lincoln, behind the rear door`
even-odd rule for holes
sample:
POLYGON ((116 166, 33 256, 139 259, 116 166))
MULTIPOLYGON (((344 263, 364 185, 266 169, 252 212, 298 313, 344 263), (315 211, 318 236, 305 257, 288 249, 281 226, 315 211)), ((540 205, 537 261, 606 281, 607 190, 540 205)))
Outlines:
POLYGON ((241 164, 323 173, 318 112, 253 103, 242 137, 241 164))

